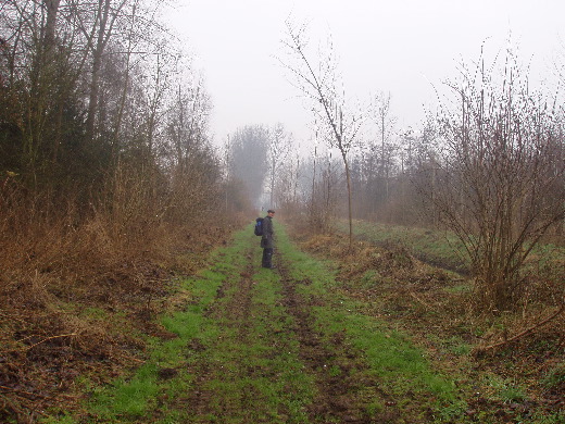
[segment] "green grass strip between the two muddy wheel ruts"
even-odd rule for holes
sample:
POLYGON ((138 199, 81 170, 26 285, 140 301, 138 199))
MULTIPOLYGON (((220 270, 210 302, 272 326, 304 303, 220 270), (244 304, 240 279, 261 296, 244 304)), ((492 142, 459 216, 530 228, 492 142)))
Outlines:
MULTIPOLYGON (((214 413, 193 416, 190 422, 307 422, 304 406, 312 398, 312 382, 303 373, 298 344, 289 329, 291 319, 280 304, 279 276, 259 271, 252 279, 246 334, 228 319, 216 323, 221 329, 209 362, 217 365, 206 383, 214 394, 210 406, 214 413)), ((223 300, 229 302, 230 296, 227 292, 223 300)))

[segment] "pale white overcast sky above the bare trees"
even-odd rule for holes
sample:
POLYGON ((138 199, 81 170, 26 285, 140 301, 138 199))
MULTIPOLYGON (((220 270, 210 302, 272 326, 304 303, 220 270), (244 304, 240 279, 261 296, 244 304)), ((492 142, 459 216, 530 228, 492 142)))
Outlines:
MULTIPOLYGON (((565 0, 177 0, 168 24, 187 39, 214 105, 215 141, 248 124, 285 124, 311 137, 311 116, 277 61, 288 16, 314 46, 331 35, 351 98, 390 92, 400 127, 434 109, 432 85, 457 64, 504 50, 508 36, 533 79, 565 52, 565 0)), ((562 60, 563 62, 563 60, 562 60)))

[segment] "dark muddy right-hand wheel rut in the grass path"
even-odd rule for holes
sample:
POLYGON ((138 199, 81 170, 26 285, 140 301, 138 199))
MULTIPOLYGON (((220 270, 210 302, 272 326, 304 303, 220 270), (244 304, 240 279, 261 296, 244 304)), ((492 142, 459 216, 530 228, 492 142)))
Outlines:
POLYGON ((401 419, 395 402, 379 388, 379 383, 367 373, 362 354, 347 342, 344 332, 329 337, 316 329, 312 307, 325 307, 323 300, 305 300, 297 292, 297 285, 310 280, 294 280, 288 270, 282 275, 284 304, 294 319, 294 333, 300 344, 300 358, 307 372, 314 375, 316 396, 309 406, 312 423, 397 423, 401 419), (382 400, 388 409, 369 411, 368 404, 382 400))

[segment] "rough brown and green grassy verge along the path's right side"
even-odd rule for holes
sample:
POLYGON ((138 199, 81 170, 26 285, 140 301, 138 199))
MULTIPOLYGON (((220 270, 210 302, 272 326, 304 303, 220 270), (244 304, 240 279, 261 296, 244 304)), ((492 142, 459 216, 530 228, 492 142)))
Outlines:
MULTIPOLYGON (((347 236, 340 233, 312 237, 303 246, 316 255, 331 258, 349 295, 371 300, 369 313, 411 334, 430 361, 457 382, 457 391, 468 404, 465 420, 565 422, 565 317, 524 333, 556 311, 551 294, 563 287, 563 249, 540 246, 535 254, 541 261, 526 270, 532 273, 532 290, 540 294, 547 286, 548 296, 532 296, 528 309, 518 313, 477 316, 468 307, 473 302, 470 282, 410 258, 410 249, 398 249, 402 237, 410 239, 409 228, 369 223, 360 226, 363 228, 368 235, 365 239, 374 236, 377 241, 359 241, 353 253, 347 252, 347 236), (523 333, 513 342, 482 350, 523 333)), ((420 236, 416 230, 415 237, 420 236)))

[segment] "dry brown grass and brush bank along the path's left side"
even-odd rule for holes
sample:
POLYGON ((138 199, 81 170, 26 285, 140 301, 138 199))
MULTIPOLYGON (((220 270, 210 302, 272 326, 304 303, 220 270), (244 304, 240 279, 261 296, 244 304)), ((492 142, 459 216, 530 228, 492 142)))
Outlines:
MULTIPOLYGON (((56 404, 77 408, 84 387, 143 358, 143 335, 167 337, 152 319, 175 275, 204 265, 230 229, 217 216, 116 222, 76 202, 2 192, 0 204, 0 421, 33 423, 56 404)), ((230 225, 237 225, 231 222, 230 225)))

